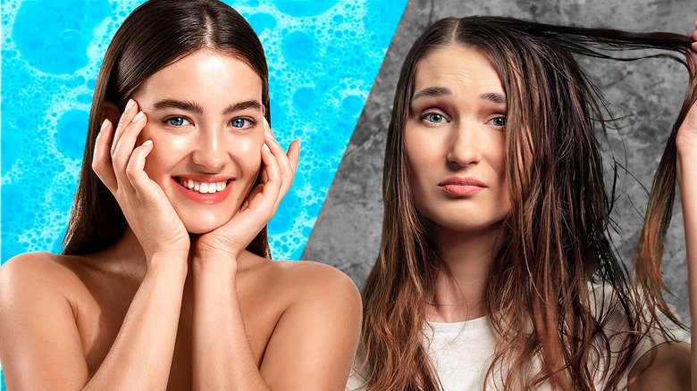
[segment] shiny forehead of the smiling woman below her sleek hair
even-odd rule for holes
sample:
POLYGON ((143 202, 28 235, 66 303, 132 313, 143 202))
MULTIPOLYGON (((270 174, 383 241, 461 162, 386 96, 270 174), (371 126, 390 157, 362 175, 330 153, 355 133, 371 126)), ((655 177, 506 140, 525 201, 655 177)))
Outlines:
POLYGON ((140 85, 137 93, 141 99, 228 96, 226 101, 261 100, 261 94, 262 80, 247 62, 207 49, 197 50, 155 72, 140 85))

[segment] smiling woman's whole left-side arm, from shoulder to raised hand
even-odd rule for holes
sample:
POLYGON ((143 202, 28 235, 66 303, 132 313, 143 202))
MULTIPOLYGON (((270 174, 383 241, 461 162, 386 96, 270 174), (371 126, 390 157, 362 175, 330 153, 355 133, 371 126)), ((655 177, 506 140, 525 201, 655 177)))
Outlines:
POLYGON ((84 308, 72 302, 76 295, 89 297, 79 273, 47 259, 53 256, 46 254, 24 255, 4 265, 0 271, 0 360, 10 389, 167 387, 189 236, 162 189, 143 171, 152 143, 134 146, 147 119, 135 102, 128 108, 115 132, 105 121, 92 167, 143 244, 145 278, 108 354, 90 376, 86 357, 93 354, 88 346, 94 341, 81 340, 84 308))

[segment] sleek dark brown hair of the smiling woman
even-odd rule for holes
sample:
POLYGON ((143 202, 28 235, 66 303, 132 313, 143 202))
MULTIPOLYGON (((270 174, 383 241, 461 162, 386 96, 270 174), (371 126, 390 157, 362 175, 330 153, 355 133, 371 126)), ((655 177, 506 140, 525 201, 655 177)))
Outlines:
MULTIPOLYGON (((271 123, 264 48, 249 23, 217 0, 149 0, 123 21, 106 49, 89 112, 88 139, 63 254, 90 254, 122 236, 126 219, 115 198, 92 171, 95 140, 105 102, 123 111, 133 92, 152 74, 198 49, 248 62, 262 81, 262 104, 271 123)), ((271 257, 266 227, 248 250, 271 257)))

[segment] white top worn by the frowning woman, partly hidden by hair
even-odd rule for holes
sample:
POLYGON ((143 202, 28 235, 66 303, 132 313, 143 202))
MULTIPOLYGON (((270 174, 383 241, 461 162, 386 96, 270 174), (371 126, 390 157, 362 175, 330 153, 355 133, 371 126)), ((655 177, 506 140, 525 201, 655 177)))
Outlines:
MULTIPOLYGON (((604 288, 601 285, 590 285, 589 287, 597 304, 595 310, 600 313, 611 311, 612 289, 610 287, 604 288)), ((690 336, 687 332, 677 329, 675 326, 671 327, 667 320, 663 320, 663 322, 668 325, 675 340, 689 342, 690 336)), ((613 351, 617 351, 617 348, 624 342, 625 334, 617 333, 617 331, 625 329, 626 317, 624 314, 612 311, 606 326, 606 335, 609 337, 613 351)), ((669 339, 660 334, 658 330, 644 337, 634 351, 629 368, 631 369, 634 362, 639 360, 651 347, 669 339)), ((496 334, 489 317, 456 323, 426 322, 424 325, 424 346, 431 359, 433 369, 441 380, 444 391, 483 389, 484 378, 486 371, 489 370, 495 345, 496 334)), ((358 372, 359 365, 359 360, 356 360, 348 378, 346 387, 348 391, 359 391, 365 387, 365 376, 358 372)), ((533 362, 533 366, 535 365, 539 365, 539 362, 533 362)), ((610 358, 610 365, 614 365, 613 357, 610 358)), ((539 366, 535 366, 535 368, 539 368, 539 366)), ((602 369, 595 368, 595 370, 600 372, 602 369)), ((618 389, 626 388, 627 375, 628 372, 620 381, 618 389)), ((605 386, 600 378, 600 375, 597 376, 599 379, 596 382, 597 389, 603 389, 605 386)), ((497 388, 490 387, 488 389, 497 388)))

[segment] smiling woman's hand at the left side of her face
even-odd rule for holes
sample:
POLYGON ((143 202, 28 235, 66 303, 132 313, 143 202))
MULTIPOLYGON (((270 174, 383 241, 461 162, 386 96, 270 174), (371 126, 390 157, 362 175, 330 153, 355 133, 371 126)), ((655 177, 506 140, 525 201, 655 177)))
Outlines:
POLYGON ((138 237, 147 262, 155 254, 189 253, 189 233, 174 211, 162 187, 144 171, 152 140, 136 146, 147 118, 130 99, 116 131, 105 120, 97 135, 92 170, 112 192, 130 229, 138 237))

